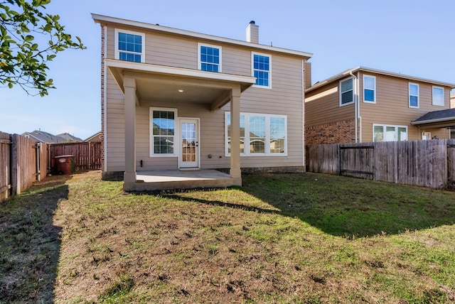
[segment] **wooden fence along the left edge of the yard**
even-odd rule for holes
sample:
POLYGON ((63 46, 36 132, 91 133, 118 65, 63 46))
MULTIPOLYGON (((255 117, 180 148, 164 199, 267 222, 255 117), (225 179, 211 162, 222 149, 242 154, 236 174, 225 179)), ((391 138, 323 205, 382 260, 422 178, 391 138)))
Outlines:
POLYGON ((48 146, 0 132, 0 200, 21 194, 47 175, 48 146))

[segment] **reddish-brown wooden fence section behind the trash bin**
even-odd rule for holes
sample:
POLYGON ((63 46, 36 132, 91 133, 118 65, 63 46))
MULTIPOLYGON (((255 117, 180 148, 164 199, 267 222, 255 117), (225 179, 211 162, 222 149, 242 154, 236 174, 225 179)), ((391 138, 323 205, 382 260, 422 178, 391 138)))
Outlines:
POLYGON ((53 173, 58 173, 56 156, 74 156, 74 168, 78 170, 101 169, 101 142, 50 143, 49 166, 53 173))

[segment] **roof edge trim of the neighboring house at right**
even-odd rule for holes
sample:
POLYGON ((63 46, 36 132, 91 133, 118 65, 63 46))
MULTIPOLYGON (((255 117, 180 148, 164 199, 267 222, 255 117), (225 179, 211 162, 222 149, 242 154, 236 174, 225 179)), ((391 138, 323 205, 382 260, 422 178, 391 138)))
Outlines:
POLYGON ((421 77, 404 75, 404 74, 395 73, 395 72, 387 72, 387 71, 384 71, 384 70, 377 70, 377 69, 373 69, 371 67, 358 66, 358 67, 354 67, 352 69, 343 71, 343 72, 341 72, 341 73, 339 73, 337 75, 334 75, 332 77, 328 77, 326 80, 322 80, 321 82, 316 82, 314 85, 312 85, 311 87, 306 89, 305 92, 311 92, 312 90, 317 89, 318 87, 323 87, 324 85, 327 85, 328 83, 331 83, 331 82, 334 82, 336 80, 339 80, 339 79, 341 79, 343 77, 346 77, 346 76, 350 75, 350 73, 355 73, 355 72, 370 72, 370 73, 375 73, 375 74, 380 74, 380 75, 385 75, 385 76, 391 76, 391 77, 397 77, 397 78, 402 78, 402 79, 406 79, 406 80, 412 80, 412 81, 416 81, 416 82, 427 82, 427 83, 430 83, 432 85, 440 85, 442 87, 450 87, 451 89, 455 88, 455 84, 454 83, 441 82, 441 81, 437 81, 437 80, 429 80, 429 79, 421 78, 421 77))

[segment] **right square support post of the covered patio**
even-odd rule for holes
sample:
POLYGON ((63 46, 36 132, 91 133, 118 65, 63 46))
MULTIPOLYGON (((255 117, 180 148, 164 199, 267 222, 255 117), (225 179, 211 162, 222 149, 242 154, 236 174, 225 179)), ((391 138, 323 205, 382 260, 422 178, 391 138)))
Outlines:
POLYGON ((232 88, 230 98, 230 177, 242 185, 240 171, 240 87, 232 88))

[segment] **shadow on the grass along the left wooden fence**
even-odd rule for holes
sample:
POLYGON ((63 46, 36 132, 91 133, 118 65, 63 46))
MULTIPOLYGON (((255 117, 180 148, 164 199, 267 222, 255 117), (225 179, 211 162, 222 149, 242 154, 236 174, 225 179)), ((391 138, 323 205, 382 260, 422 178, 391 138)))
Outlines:
POLYGON ((53 226, 66 177, 0 202, 0 303, 53 303, 61 228, 53 226))

